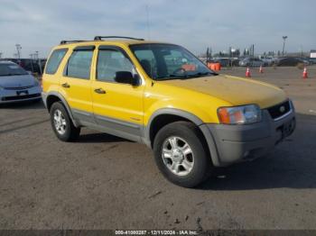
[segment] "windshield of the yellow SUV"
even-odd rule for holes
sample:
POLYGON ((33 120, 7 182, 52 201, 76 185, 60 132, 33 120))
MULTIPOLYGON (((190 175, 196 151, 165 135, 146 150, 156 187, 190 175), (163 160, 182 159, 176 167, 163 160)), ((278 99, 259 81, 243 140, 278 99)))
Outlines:
POLYGON ((130 49, 154 80, 217 75, 191 52, 177 45, 146 43, 131 45, 130 49))

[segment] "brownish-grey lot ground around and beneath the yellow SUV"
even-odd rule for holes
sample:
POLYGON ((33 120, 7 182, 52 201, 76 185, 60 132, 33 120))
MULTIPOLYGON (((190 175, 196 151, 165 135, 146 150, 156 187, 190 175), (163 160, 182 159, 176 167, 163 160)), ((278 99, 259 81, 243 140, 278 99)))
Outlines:
POLYGON ((316 229, 316 67, 309 73, 252 69, 293 99, 297 130, 195 189, 165 180, 142 144, 87 129, 63 143, 41 103, 2 105, 0 229, 316 229))

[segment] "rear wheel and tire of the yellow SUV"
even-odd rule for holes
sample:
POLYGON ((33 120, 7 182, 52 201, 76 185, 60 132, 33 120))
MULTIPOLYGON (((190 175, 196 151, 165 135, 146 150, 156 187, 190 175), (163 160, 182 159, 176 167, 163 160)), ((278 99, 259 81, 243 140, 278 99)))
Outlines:
POLYGON ((79 138, 80 128, 74 126, 70 119, 65 106, 61 102, 56 102, 51 105, 51 128, 55 132, 60 141, 76 141, 79 138), (60 122, 58 118, 60 115, 60 122), (56 124, 57 123, 57 124, 56 124))

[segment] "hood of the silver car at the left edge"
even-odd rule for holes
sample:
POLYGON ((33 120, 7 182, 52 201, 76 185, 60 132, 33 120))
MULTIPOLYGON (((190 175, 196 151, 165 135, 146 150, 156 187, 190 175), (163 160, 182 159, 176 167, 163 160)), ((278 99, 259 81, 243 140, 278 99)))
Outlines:
POLYGON ((33 85, 34 77, 31 75, 0 77, 0 86, 3 87, 20 87, 33 85))

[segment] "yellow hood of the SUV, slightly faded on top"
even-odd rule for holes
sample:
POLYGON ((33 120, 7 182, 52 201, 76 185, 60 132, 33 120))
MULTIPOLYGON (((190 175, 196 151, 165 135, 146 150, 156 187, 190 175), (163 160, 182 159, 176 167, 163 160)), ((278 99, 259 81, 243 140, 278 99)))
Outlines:
POLYGON ((251 78, 218 75, 172 79, 159 83, 211 95, 233 105, 258 104, 260 108, 266 108, 282 103, 287 98, 282 89, 251 78))

